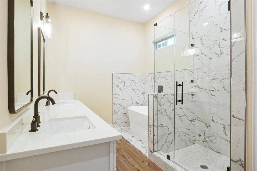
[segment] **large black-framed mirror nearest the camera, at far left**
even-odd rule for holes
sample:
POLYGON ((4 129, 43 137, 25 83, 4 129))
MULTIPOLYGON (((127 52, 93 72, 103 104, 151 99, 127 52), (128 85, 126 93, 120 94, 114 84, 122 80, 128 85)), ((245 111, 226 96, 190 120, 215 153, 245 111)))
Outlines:
POLYGON ((8 109, 33 102, 33 1, 8 0, 8 109))

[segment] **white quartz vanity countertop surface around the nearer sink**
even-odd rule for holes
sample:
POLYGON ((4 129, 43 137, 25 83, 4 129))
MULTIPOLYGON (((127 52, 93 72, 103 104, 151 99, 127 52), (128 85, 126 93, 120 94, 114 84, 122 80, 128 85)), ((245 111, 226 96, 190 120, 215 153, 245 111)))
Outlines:
MULTIPOLYGON (((39 115, 41 115, 42 122, 40 124, 41 126, 38 127, 39 131, 33 133, 29 132, 29 123, 10 150, 6 154, 0 155, 0 161, 106 143, 122 138, 122 135, 118 131, 112 128, 80 101, 72 100, 66 102, 72 103, 63 103, 62 105, 56 103, 55 105, 39 106, 39 115), (74 116, 87 116, 96 128, 84 131, 45 135, 48 119, 74 116)), ((31 111, 32 120, 33 108, 31 111)))

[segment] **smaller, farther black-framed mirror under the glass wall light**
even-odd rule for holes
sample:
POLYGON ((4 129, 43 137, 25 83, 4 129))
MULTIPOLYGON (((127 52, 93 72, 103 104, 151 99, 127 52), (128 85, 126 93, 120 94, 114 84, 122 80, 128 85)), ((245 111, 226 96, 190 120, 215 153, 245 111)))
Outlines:
POLYGON ((44 94, 45 39, 42 29, 38 28, 38 95, 44 94))

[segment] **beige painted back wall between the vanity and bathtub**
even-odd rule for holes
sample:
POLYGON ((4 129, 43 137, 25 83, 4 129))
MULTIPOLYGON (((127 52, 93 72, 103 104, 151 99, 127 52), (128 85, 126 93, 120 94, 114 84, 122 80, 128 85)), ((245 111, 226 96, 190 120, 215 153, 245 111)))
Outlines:
POLYGON ((46 42, 46 90, 75 99, 112 123, 112 73, 144 73, 140 23, 47 3, 52 38, 46 42))

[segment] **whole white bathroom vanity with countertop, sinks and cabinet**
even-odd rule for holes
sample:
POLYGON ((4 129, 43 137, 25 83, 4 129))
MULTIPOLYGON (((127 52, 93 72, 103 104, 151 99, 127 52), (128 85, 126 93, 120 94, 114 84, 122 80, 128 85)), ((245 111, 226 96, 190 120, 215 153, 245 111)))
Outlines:
POLYGON ((116 170, 118 131, 80 101, 42 101, 39 131, 33 107, 1 130, 1 170, 116 170))

